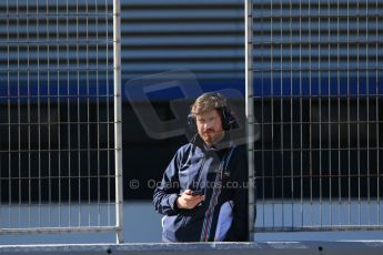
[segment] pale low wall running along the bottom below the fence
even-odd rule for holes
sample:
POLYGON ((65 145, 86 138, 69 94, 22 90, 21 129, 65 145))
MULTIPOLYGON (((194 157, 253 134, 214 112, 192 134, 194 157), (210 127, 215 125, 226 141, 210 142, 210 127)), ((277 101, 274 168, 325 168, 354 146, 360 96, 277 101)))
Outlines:
POLYGON ((210 244, 123 244, 0 246, 0 254, 284 254, 284 255, 374 255, 383 253, 383 242, 273 242, 210 244))

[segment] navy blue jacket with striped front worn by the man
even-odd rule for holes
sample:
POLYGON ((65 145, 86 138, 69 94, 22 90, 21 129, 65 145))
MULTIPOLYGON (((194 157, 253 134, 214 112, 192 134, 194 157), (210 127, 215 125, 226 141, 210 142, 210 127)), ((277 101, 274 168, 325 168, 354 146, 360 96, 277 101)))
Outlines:
POLYGON ((155 211, 165 215, 162 222, 163 239, 214 241, 220 208, 231 201, 232 223, 222 241, 248 241, 245 146, 235 146, 225 139, 222 144, 226 146, 208 149, 196 135, 192 142, 180 147, 170 162, 153 195, 155 211), (203 191, 205 201, 192 210, 180 210, 177 197, 188 188, 203 191))

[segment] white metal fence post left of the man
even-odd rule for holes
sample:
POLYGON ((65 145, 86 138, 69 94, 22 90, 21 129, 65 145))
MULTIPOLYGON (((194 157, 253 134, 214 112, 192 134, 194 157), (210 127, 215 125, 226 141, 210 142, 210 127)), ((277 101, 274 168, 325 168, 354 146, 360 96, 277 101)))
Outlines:
POLYGON ((113 83, 117 243, 123 243, 122 123, 121 123, 121 2, 113 0, 113 83))

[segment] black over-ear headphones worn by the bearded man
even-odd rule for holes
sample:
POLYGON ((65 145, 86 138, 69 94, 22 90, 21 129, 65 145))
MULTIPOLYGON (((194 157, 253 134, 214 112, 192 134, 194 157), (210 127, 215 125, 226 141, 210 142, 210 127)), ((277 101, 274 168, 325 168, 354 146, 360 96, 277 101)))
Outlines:
MULTIPOLYGON (((215 110, 218 111, 218 113, 221 116, 222 129, 224 131, 238 129, 239 128, 238 121, 233 116, 233 114, 231 113, 231 110, 228 106, 226 100, 218 92, 204 93, 200 98, 208 98, 208 96, 213 98, 213 99, 215 98, 214 100, 220 105, 220 106, 215 108, 215 110)), ((199 100, 199 99, 196 99, 196 100, 199 100)), ((190 113, 188 115, 188 126, 191 131, 196 132, 195 115, 193 113, 190 113)))

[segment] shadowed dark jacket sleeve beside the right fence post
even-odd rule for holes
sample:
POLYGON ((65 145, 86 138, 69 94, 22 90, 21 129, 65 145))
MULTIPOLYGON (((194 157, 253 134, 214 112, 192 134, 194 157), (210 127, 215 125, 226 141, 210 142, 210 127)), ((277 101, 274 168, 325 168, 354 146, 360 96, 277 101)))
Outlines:
POLYGON ((224 241, 248 242, 249 241, 249 185, 248 185, 248 156, 245 151, 239 153, 236 165, 233 171, 233 182, 238 182, 238 188, 233 191, 233 222, 224 241))

